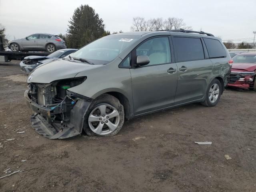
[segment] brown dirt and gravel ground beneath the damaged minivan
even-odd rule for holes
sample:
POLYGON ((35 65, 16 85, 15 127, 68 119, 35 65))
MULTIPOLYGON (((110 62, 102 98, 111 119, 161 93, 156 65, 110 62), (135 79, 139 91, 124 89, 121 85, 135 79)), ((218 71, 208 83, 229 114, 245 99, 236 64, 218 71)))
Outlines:
POLYGON ((18 63, 0 63, 0 177, 35 169, 0 179, 1 192, 256 191, 256 92, 227 89, 215 107, 142 116, 110 138, 50 140, 30 127, 18 63))

